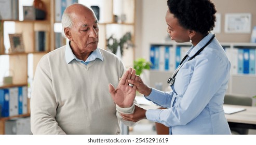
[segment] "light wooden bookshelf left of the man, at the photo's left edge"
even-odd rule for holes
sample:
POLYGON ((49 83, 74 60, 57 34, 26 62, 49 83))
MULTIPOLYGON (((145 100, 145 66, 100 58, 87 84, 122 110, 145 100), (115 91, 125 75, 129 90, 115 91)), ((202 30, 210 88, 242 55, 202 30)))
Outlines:
MULTIPOLYGON (((13 0, 12 0, 13 1, 13 0)), ((0 82, 0 89, 15 89, 18 87, 25 87, 26 92, 28 92, 28 85, 29 77, 33 77, 35 72, 36 65, 41 57, 46 54, 47 52, 51 51, 50 48, 53 44, 48 40, 51 39, 51 30, 52 30, 52 22, 51 22, 51 15, 52 12, 51 6, 53 2, 50 0, 42 0, 46 7, 46 19, 45 20, 23 20, 21 18, 22 7, 25 6, 24 0, 13 1, 17 5, 17 9, 12 9, 12 11, 17 11, 18 17, 17 19, 2 19, 0 20, 1 27, 0 27, 0 57, 7 56, 6 62, 8 66, 5 67, 7 70, 1 71, 9 71, 9 75, 12 76, 12 83, 11 84, 4 84, 0 82), (12 27, 10 27, 10 24, 12 27), (8 43, 6 45, 6 41, 8 42, 8 32, 7 28, 14 30, 11 33, 13 34, 22 34, 23 44, 24 44, 24 51, 23 52, 11 52, 10 48, 8 47, 8 43), (44 31, 47 32, 46 37, 46 49, 43 51, 36 50, 36 40, 35 40, 35 32, 37 31, 44 31), (32 62, 29 62, 29 55, 32 56, 32 62), (29 64, 32 64, 32 70, 29 70, 29 64), (32 71, 30 73, 29 71, 32 71), (29 76, 29 74, 32 74, 29 76)), ((30 6, 33 5, 33 1, 31 0, 30 6)), ((23 14, 23 13, 22 13, 23 14)), ((3 60, 1 60, 3 61, 3 60)), ((31 59, 30 59, 31 61, 31 59)), ((1 63, 3 65, 3 63, 1 63)), ((3 76, 1 76, 3 77, 3 76)), ((2 78, 1 78, 2 79, 2 78)), ((10 95, 11 97, 11 95, 10 95)), ((25 97, 28 97, 26 95, 25 97)), ((18 98, 18 97, 17 97, 18 98)), ((8 117, 0 117, 0 134, 5 134, 5 121, 13 118, 20 118, 20 117, 29 117, 30 116, 30 99, 26 99, 26 106, 27 110, 24 111, 25 113, 10 115, 8 117)))

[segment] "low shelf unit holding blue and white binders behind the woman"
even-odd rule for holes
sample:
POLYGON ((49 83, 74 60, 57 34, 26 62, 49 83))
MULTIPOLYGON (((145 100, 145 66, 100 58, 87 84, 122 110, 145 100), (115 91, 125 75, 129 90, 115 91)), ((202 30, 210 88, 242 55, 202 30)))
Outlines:
MULTIPOLYGON (((256 95, 256 90, 254 88, 254 86, 256 86, 256 74, 255 74, 255 51, 254 51, 254 55, 250 55, 249 54, 249 60, 250 58, 252 58, 251 60, 254 62, 252 63, 252 68, 250 68, 251 70, 254 70, 252 72, 238 72, 238 54, 237 51, 238 49, 244 51, 245 49, 249 49, 249 50, 256 50, 256 44, 252 44, 252 43, 230 43, 230 42, 222 42, 221 43, 222 47, 225 49, 228 58, 231 61, 231 77, 230 77, 230 81, 228 82, 228 89, 226 91, 226 93, 228 94, 243 94, 243 95, 247 95, 247 96, 255 96, 256 95)), ((167 91, 170 90, 169 85, 167 84, 167 80, 169 79, 169 77, 171 77, 171 75, 173 74, 175 68, 176 68, 176 62, 173 61, 178 61, 180 59, 176 58, 176 49, 177 48, 181 48, 181 59, 183 58, 182 56, 182 49, 184 49, 184 51, 187 50, 187 48, 191 47, 191 44, 189 43, 177 43, 177 42, 168 42, 168 43, 162 43, 162 44, 151 44, 151 49, 152 47, 158 48, 159 49, 159 60, 158 60, 158 66, 157 64, 155 64, 153 66, 153 68, 151 68, 150 70, 150 86, 152 86, 153 88, 157 88, 159 87, 159 83, 161 84, 160 88, 163 91, 167 91), (170 51, 168 54, 170 56, 170 58, 174 57, 173 59, 168 60, 168 65, 169 67, 166 69, 165 65, 165 59, 163 59, 163 57, 165 58, 166 52, 163 51, 163 49, 165 48, 170 48, 170 51), (162 52, 161 50, 162 49, 162 52), (174 50, 174 51, 171 51, 174 50), (174 55, 172 54, 174 53, 174 55), (162 58, 162 59, 161 59, 162 58)), ((183 54, 184 55, 184 54, 183 54)), ((242 55, 245 55, 244 53, 242 55)), ((242 56, 244 57, 244 56, 242 56)), ((150 54, 150 58, 154 60, 154 58, 152 58, 152 53, 150 54)), ((152 61, 151 61, 152 62, 152 61)), ((153 62, 154 64, 155 62, 153 62)), ((242 64, 244 65, 244 62, 242 62, 242 64)))

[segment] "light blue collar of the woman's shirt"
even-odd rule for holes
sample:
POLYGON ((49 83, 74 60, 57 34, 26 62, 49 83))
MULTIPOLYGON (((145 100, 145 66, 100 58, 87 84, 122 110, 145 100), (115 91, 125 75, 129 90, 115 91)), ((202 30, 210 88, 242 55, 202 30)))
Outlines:
POLYGON ((192 57, 193 55, 196 54, 197 51, 199 51, 202 47, 204 47, 207 42, 211 39, 213 36, 213 33, 209 33, 206 35, 196 46, 192 46, 190 50, 188 50, 188 56, 192 57))

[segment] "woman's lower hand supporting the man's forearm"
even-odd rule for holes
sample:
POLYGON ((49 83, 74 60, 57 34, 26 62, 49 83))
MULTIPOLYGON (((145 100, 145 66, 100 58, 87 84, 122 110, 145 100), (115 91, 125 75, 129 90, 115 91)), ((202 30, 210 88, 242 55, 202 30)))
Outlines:
POLYGON ((146 110, 135 105, 135 109, 132 114, 121 113, 121 117, 127 121, 137 122, 142 119, 146 119, 146 110))

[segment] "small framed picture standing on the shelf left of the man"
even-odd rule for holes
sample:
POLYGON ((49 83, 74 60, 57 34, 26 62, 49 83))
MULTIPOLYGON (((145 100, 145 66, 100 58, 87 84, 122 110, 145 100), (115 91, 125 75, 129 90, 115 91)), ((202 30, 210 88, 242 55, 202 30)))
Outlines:
POLYGON ((11 53, 24 52, 22 34, 9 34, 11 53))

